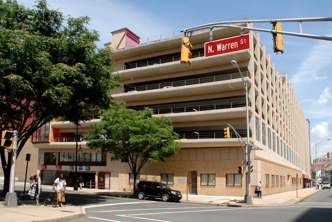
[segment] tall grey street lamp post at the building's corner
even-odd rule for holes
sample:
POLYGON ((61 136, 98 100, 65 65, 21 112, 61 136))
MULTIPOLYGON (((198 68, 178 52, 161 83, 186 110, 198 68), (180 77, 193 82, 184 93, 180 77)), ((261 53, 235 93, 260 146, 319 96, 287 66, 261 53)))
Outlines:
POLYGON ((238 63, 235 60, 230 61, 233 66, 238 67, 244 87, 246 89, 246 112, 247 112, 247 142, 246 142, 246 195, 244 196, 244 203, 252 204, 252 196, 250 195, 250 149, 249 149, 249 113, 248 113, 248 86, 244 81, 242 72, 238 63))

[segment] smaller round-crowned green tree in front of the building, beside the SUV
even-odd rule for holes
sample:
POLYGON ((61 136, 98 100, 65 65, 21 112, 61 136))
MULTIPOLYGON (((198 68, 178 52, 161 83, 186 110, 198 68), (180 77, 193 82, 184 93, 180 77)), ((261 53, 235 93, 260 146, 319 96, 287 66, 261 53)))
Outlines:
POLYGON ((128 162, 136 177, 148 161, 164 161, 164 157, 177 154, 181 143, 175 141, 172 120, 165 116, 152 116, 153 110, 126 109, 124 102, 114 103, 111 109, 102 110, 100 122, 92 123, 92 131, 85 134, 90 149, 111 153, 111 160, 128 162))

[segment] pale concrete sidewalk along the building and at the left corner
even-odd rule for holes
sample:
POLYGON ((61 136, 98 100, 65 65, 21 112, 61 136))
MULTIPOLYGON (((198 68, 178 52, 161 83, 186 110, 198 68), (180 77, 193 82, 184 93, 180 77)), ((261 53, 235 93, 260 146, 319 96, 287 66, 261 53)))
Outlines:
MULTIPOLYGON (((23 186, 23 182, 15 182, 15 186, 23 186)), ((52 185, 43 185, 43 190, 52 190, 52 185)), ((274 206, 288 206, 297 203, 307 196, 317 192, 315 187, 301 189, 298 191, 289 191, 285 193, 278 193, 264 196, 263 198, 256 198, 256 194, 252 196, 252 204, 243 203, 243 196, 207 196, 207 195, 192 195, 182 194, 183 198, 181 203, 196 203, 196 204, 208 204, 216 206, 228 206, 228 207, 274 207, 274 206)), ((83 188, 77 191, 70 190, 70 192, 96 194, 115 196, 121 198, 135 198, 132 196, 132 192, 115 191, 115 190, 100 190, 83 188)), ((33 202, 35 203, 35 202, 33 202)), ((41 200, 40 203, 43 203, 41 200)), ((18 201, 17 207, 5 207, 4 202, 0 202, 0 214, 2 221, 59 221, 70 218, 76 218, 85 215, 85 210, 82 207, 68 206, 56 207, 52 206, 35 206, 29 205, 29 200, 18 201)))

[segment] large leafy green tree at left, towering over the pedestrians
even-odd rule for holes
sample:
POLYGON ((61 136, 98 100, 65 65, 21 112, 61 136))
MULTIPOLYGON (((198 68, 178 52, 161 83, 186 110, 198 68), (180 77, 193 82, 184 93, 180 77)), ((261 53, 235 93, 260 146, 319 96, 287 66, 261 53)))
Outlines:
MULTIPOLYGON (((112 52, 97 48, 99 34, 87 28, 89 20, 65 18, 46 0, 33 9, 0 0, 0 130, 18 131, 17 155, 46 122, 88 120, 90 110, 109 107, 111 89, 121 86, 112 52)), ((4 149, 0 156, 5 193, 11 158, 6 161, 4 149)))

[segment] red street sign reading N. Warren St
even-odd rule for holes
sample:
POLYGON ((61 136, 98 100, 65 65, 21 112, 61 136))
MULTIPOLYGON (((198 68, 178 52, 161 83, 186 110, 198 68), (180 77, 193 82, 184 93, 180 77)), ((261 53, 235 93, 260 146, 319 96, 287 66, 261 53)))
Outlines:
POLYGON ((216 41, 205 42, 204 53, 205 57, 217 56, 226 53, 239 52, 243 50, 250 50, 250 36, 249 34, 243 36, 235 36, 227 39, 220 39, 216 41))

